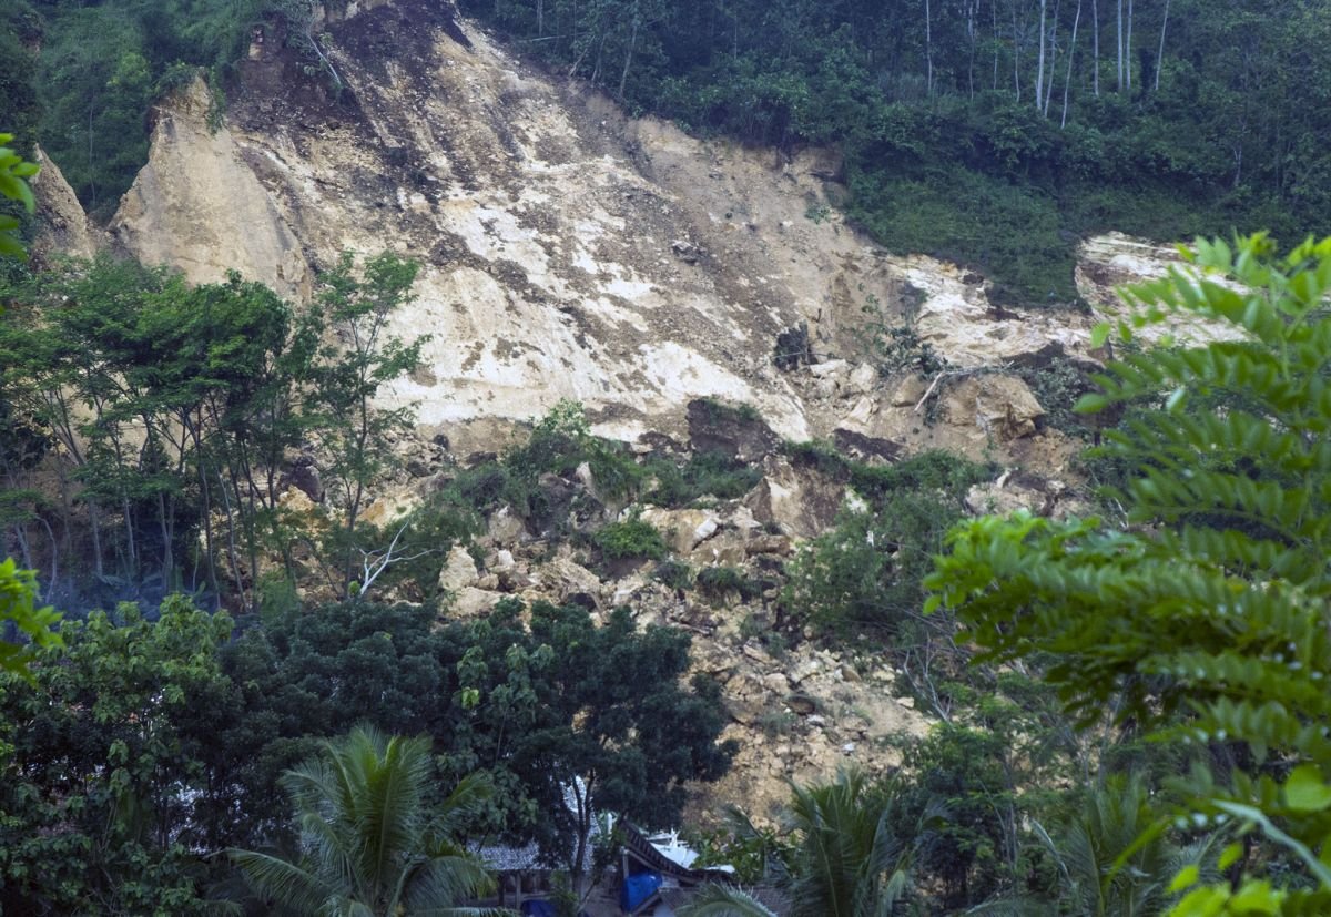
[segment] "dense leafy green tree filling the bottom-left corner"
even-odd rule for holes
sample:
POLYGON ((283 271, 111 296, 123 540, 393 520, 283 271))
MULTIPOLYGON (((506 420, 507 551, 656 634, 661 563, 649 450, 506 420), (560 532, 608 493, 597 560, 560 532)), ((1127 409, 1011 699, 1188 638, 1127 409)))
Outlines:
POLYGON ((32 681, 0 676, 0 904, 16 913, 204 913, 206 759, 236 709, 225 614, 133 606, 61 628, 32 681), (118 623, 116 619, 120 619, 118 623))

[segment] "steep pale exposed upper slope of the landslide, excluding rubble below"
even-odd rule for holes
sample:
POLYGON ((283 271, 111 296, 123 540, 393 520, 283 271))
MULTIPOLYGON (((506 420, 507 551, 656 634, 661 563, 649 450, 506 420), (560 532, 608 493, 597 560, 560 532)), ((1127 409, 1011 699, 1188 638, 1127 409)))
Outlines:
POLYGON ((112 232, 192 279, 234 268, 295 298, 342 249, 418 260, 394 330, 431 335, 426 366, 383 398, 417 403, 423 425, 496 430, 574 398, 598 433, 632 439, 676 433, 688 399, 715 395, 783 437, 827 437, 874 386, 852 371, 865 306, 917 315, 954 366, 1050 341, 1086 351, 1089 317, 996 310, 981 278, 890 256, 827 212, 827 152, 628 120, 466 23, 463 36, 443 4, 394 0, 329 28, 347 101, 330 104, 281 43, 257 45, 226 126, 209 128, 201 84, 160 114, 112 232), (776 335, 801 322, 837 371, 776 369, 776 335))

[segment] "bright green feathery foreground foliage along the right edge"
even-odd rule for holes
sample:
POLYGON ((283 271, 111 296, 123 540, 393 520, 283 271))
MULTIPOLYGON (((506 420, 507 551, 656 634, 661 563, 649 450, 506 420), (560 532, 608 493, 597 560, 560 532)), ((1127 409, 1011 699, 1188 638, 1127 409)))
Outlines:
POLYGON ((1275 888, 1259 858, 1243 858, 1252 845, 1234 846, 1221 865, 1242 880, 1198 885, 1187 870, 1175 913, 1320 913, 1331 906, 1318 858, 1331 811, 1331 240, 1283 258, 1266 236, 1198 242, 1187 258, 1195 270, 1129 293, 1138 310, 1119 334, 1182 313, 1226 335, 1126 351, 1099 379, 1105 393, 1082 402, 1159 398, 1106 446, 1137 470, 1117 494, 1137 527, 1024 514, 964 523, 929 579, 930 604, 957 610, 982 659, 1050 653, 1045 677, 1081 721, 1111 707, 1227 759, 1227 773, 1194 769, 1187 807, 1201 824, 1255 832, 1298 878, 1275 888))

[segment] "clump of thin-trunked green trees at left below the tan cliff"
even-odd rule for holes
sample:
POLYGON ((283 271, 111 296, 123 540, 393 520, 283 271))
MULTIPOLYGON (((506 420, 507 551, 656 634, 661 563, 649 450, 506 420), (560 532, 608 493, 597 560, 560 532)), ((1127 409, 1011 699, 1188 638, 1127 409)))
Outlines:
MULTIPOLYGON (((306 429, 317 317, 294 317, 238 275, 190 287, 105 256, 4 294, 13 307, 0 323, 0 398, 45 441, 61 484, 52 566, 63 552, 80 572, 71 555, 85 554, 98 586, 153 598, 197 588, 201 571, 216 599, 252 607, 261 550, 290 558, 278 488, 306 429), (76 534, 92 543, 76 550, 76 534), (192 556, 196 534, 204 550, 192 556)), ((21 490, 23 474, 11 474, 21 490)))

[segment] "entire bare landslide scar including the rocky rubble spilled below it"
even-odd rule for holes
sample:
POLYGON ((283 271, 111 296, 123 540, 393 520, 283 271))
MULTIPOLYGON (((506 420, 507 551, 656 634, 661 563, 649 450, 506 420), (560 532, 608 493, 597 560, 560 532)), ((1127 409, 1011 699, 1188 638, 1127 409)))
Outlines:
MULTIPOLYGON (((236 269, 297 301, 343 249, 422 264, 394 330, 431 335, 426 365, 386 398, 417 406, 419 443, 405 451, 419 458, 367 518, 391 518, 446 474, 427 446, 437 434, 457 460, 499 451, 518 422, 562 398, 586 405, 596 433, 630 442, 655 433, 687 449, 689 403, 715 397, 752 405, 780 438, 832 439, 872 460, 942 446, 1036 472, 1025 490, 1004 475, 978 491, 977 511, 1022 500, 1051 511, 1067 491, 1079 445, 1045 422, 1028 379, 1051 359, 1094 363, 1091 315, 997 307, 978 274, 874 246, 831 206, 833 154, 744 149, 628 118, 522 64, 447 4, 394 0, 329 32, 349 85, 338 100, 269 41, 252 48, 222 124, 202 83, 161 109, 150 162, 105 244, 194 281, 236 269), (870 359, 874 325, 902 322, 944 370, 882 373, 870 359), (808 346, 789 335, 801 327, 808 346)), ((64 245, 88 250, 96 233, 55 177, 47 185, 64 245)), ((1099 305, 1169 260, 1117 236, 1083 254, 1078 282, 1099 305)), ((751 458, 763 478, 743 500, 648 511, 679 558, 779 568, 848 496, 845 482, 771 445, 751 458)), ((840 761, 881 769, 898 760, 885 739, 928 727, 910 689, 893 689, 900 673, 872 656, 809 643, 773 655, 755 640, 776 590, 703 602, 643 570, 598 576, 540 536, 500 512, 479 539, 479 568, 450 554, 441 587, 455 611, 503 595, 578 596, 598 612, 631 602, 644 622, 695 632, 696 667, 724 684, 728 735, 743 744, 721 799, 765 813, 785 779, 840 761)))

